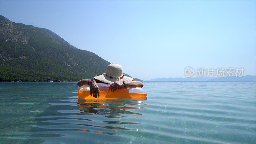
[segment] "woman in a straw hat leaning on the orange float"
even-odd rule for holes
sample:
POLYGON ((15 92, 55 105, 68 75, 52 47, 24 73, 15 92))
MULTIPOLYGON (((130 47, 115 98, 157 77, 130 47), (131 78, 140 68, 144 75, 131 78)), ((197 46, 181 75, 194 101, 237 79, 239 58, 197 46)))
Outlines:
POLYGON ((77 85, 81 87, 84 84, 90 85, 90 94, 93 97, 100 97, 100 90, 97 83, 110 84, 110 91, 115 92, 120 87, 143 87, 140 81, 133 81, 134 79, 123 74, 123 68, 119 64, 108 65, 106 73, 95 76, 91 80, 82 79, 77 85))

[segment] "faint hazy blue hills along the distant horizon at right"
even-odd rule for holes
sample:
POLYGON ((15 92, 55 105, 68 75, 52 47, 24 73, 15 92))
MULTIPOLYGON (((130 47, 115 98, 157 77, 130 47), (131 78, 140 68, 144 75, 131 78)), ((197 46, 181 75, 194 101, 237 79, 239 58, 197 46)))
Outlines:
POLYGON ((256 82, 256 76, 226 76, 226 77, 159 77, 151 80, 147 80, 150 82, 158 81, 158 82, 256 82))

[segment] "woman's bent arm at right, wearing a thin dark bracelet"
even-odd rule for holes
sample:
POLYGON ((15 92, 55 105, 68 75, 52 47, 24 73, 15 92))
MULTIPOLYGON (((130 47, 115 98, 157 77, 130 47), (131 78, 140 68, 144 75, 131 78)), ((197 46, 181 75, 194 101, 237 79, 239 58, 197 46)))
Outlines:
POLYGON ((143 87, 143 84, 140 81, 129 81, 129 82, 114 82, 113 84, 110 84, 110 91, 115 92, 120 87, 143 87))

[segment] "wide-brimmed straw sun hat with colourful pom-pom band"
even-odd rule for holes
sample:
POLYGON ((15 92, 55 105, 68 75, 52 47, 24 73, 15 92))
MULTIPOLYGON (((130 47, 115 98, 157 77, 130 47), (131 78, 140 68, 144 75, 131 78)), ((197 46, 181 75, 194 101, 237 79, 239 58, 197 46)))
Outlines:
POLYGON ((103 82, 112 84, 114 82, 127 82, 133 81, 134 79, 123 74, 123 68, 119 64, 108 65, 106 73, 95 76, 95 79, 103 82))

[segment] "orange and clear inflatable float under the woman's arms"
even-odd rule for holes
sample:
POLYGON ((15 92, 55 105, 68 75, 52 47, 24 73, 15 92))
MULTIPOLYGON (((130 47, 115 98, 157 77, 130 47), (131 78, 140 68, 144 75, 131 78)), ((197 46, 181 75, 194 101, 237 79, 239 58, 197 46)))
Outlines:
MULTIPOLYGON (((100 89, 100 97, 97 99, 129 99, 129 98, 143 98, 147 96, 146 91, 143 88, 119 88, 115 92, 110 92, 110 84, 97 83, 100 89)), ((80 99, 95 99, 90 94, 90 87, 88 84, 85 84, 81 87, 78 87, 78 97, 80 99)))

